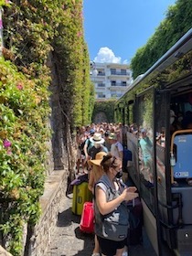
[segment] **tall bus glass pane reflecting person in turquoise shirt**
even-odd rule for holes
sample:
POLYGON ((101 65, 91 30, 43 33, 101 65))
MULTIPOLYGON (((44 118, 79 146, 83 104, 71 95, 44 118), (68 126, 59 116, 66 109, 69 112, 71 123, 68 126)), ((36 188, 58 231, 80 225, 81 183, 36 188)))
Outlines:
POLYGON ((138 153, 141 194, 154 210, 154 90, 144 91, 137 98, 138 153))

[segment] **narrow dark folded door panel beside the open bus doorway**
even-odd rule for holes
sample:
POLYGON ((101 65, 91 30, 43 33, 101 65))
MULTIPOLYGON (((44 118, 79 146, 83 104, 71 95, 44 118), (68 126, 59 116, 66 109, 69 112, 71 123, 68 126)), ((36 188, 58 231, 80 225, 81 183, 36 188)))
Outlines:
MULTIPOLYGON (((175 243, 173 225, 172 169, 170 165, 170 92, 155 91, 155 156, 161 235, 169 247, 175 243), (173 229, 172 229, 173 227, 173 229)), ((178 209, 176 209, 178 212, 178 209)))

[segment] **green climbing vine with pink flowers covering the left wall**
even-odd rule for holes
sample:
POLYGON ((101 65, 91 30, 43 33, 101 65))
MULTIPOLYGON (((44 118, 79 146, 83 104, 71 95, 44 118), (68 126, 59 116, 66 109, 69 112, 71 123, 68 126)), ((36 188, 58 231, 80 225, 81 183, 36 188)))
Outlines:
POLYGON ((91 122, 93 87, 83 38, 81 0, 0 1, 0 230, 6 250, 21 255, 23 226, 35 225, 44 191, 51 138, 50 53, 58 71, 59 101, 71 131, 91 122))

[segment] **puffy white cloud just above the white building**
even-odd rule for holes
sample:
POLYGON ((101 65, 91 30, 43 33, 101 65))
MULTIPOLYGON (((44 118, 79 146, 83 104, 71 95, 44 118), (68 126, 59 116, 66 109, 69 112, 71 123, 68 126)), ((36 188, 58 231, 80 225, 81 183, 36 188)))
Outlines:
POLYGON ((116 57, 111 48, 100 48, 94 62, 98 63, 121 63, 122 58, 116 57))

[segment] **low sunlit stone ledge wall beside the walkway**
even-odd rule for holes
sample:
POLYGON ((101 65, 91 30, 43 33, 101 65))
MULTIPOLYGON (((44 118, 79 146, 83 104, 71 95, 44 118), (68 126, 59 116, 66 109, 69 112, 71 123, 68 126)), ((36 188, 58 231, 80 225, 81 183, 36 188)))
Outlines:
POLYGON ((51 234, 57 225, 60 201, 65 197, 68 170, 56 170, 48 176, 40 197, 42 215, 29 242, 28 256, 46 255, 51 234))

